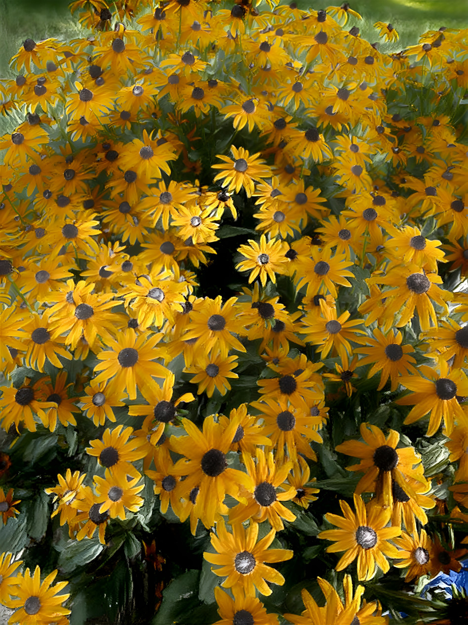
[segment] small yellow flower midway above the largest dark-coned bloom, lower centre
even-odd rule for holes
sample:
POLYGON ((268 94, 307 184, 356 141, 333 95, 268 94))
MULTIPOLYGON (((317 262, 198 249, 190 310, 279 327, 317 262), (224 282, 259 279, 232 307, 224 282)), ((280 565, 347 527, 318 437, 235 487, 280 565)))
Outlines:
POLYGON ((211 397, 216 388, 221 395, 226 395, 231 390, 228 377, 236 379, 239 377, 232 369, 237 367, 237 356, 222 357, 221 354, 211 354, 211 356, 200 357, 196 363, 184 369, 188 373, 194 374, 191 378, 192 384, 198 384, 197 394, 206 392, 211 397))

